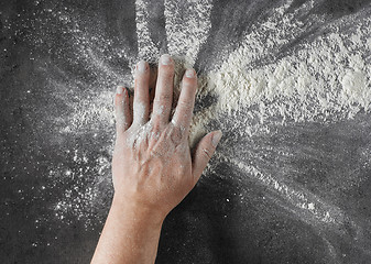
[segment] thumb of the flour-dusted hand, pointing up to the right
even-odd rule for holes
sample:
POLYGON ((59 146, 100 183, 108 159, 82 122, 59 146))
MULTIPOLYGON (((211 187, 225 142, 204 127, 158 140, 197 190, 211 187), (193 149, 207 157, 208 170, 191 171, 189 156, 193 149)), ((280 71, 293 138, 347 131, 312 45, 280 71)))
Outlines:
POLYGON ((196 146, 193 161, 193 175, 195 184, 198 182, 207 163, 210 161, 220 139, 221 131, 214 131, 205 135, 196 146))

